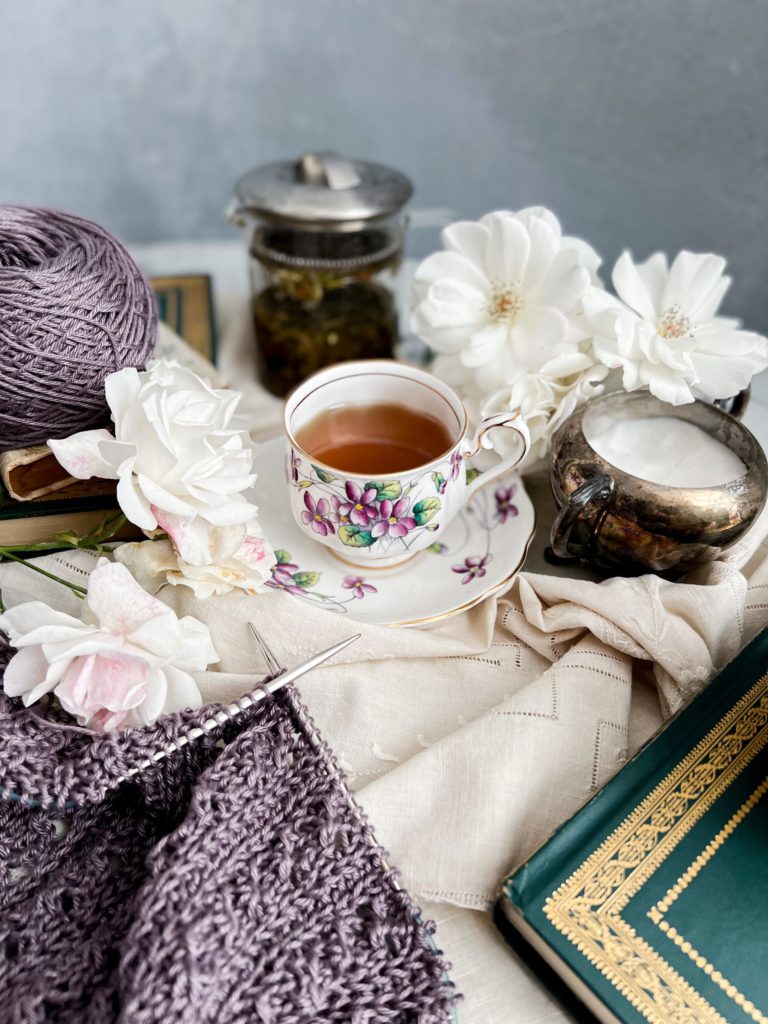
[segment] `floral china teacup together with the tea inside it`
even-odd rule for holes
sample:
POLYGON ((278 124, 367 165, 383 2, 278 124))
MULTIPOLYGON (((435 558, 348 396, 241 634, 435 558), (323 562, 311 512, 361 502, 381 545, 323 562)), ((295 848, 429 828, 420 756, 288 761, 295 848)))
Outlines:
POLYGON ((439 539, 478 487, 508 473, 530 444, 513 413, 467 437, 467 412, 442 381, 386 359, 340 362, 308 378, 285 414, 286 482, 297 525, 354 566, 398 565, 439 539), (467 461, 493 431, 514 455, 467 483, 467 461))

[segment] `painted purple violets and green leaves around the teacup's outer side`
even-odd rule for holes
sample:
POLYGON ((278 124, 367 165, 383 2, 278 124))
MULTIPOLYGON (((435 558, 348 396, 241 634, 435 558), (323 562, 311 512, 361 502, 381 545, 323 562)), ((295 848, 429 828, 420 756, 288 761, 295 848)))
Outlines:
POLYGON ((444 467, 401 479, 355 481, 307 463, 291 449, 289 483, 301 496, 299 519, 317 539, 338 538, 350 549, 390 557, 428 546, 449 486, 460 480, 463 457, 454 452, 444 467))

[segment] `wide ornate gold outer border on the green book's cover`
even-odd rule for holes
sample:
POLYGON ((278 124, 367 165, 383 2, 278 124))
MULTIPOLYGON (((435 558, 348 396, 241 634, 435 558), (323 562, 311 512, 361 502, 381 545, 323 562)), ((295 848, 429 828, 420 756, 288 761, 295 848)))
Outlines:
POLYGON ((650 1024, 727 1024, 622 911, 766 743, 768 675, 545 903, 553 927, 650 1024))

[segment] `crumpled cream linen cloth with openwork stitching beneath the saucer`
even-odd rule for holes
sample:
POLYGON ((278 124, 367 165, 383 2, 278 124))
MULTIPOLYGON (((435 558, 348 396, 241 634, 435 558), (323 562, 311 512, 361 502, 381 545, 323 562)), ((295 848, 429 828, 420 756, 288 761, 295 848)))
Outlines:
MULTIPOLYGON (((263 673, 248 624, 290 666, 361 638, 301 682, 404 884, 437 922, 465 995, 462 1022, 566 1018, 504 946, 487 913, 502 877, 567 818, 768 618, 765 519, 695 582, 521 573, 511 590, 419 630, 355 623, 284 594, 162 600, 208 624, 221 663, 199 676, 229 700, 263 673)), ((89 553, 39 560, 83 583, 89 553)), ((77 612, 65 588, 0 566, 7 605, 77 612)))

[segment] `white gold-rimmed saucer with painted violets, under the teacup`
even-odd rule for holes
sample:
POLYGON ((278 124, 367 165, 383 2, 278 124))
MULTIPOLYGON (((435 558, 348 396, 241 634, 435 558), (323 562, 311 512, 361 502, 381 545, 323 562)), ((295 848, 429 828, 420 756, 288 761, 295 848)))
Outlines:
POLYGON ((249 494, 278 556, 266 586, 298 601, 379 626, 420 626, 465 611, 507 586, 534 537, 534 506, 517 473, 480 487, 439 537, 390 568, 345 564, 312 541, 291 513, 282 437, 256 455, 249 494))

